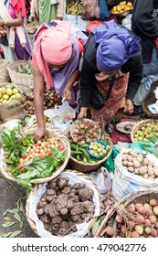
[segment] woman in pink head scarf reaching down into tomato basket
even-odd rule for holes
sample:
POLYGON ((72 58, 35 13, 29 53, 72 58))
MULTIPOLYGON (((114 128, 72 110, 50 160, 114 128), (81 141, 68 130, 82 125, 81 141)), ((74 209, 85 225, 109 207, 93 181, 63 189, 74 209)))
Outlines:
POLYGON ((72 33, 68 21, 53 21, 55 27, 42 26, 45 30, 37 38, 33 52, 33 74, 37 130, 35 139, 46 134, 44 123, 43 91, 54 88, 69 104, 76 102, 74 83, 79 77, 79 59, 87 37, 80 31, 79 37, 72 33))

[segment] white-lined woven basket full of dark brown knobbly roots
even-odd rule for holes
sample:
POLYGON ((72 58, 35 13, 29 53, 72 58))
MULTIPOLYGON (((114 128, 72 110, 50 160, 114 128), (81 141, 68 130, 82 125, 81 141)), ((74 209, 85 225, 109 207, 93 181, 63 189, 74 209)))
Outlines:
POLYGON ((84 237, 99 215, 98 187, 75 170, 36 186, 26 199, 26 219, 39 237, 84 237))

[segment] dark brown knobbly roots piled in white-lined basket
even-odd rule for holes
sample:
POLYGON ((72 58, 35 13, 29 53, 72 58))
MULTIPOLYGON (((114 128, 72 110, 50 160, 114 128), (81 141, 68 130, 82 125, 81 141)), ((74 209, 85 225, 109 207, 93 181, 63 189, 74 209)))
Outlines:
POLYGON ((58 176, 47 183, 47 191, 37 204, 37 216, 52 235, 73 233, 77 224, 92 218, 93 193, 83 183, 70 185, 68 177, 58 176))

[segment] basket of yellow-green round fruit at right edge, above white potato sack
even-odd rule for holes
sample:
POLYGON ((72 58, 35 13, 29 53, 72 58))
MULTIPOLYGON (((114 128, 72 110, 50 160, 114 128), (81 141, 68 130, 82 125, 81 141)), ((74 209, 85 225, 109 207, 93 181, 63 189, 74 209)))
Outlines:
POLYGON ((131 140, 133 142, 158 143, 158 120, 146 119, 132 127, 131 140))

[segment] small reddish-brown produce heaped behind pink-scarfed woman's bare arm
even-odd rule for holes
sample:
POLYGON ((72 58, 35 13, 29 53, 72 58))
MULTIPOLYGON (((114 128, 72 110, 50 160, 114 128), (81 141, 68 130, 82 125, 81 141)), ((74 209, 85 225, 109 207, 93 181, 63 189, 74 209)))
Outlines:
MULTIPOLYGON (((35 108, 34 108, 34 89, 31 88, 29 91, 25 92, 25 104, 23 105, 24 110, 27 114, 34 114, 35 108)), ((58 93, 54 89, 45 88, 44 90, 44 110, 53 108, 56 104, 61 104, 61 97, 58 95, 58 93)))

